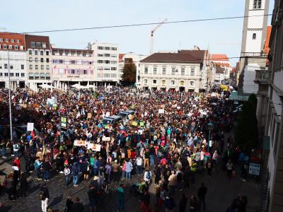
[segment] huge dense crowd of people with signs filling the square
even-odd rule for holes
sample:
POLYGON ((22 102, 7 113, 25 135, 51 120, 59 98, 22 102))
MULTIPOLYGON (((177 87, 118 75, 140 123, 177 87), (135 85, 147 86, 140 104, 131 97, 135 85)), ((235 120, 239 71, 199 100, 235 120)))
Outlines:
MULTIPOLYGON (((16 185, 21 180, 22 191, 27 187, 27 173, 35 172, 42 184, 42 211, 47 211, 49 192, 47 182, 53 175, 64 175, 66 186, 79 186, 81 180, 91 179, 88 199, 91 211, 96 211, 100 194, 107 185, 117 187, 117 210, 125 211, 125 184, 133 175, 138 182, 131 192, 141 202, 141 211, 176 207, 176 189, 186 189, 195 182, 195 175, 212 169, 225 153, 223 164, 231 179, 233 171, 233 141, 224 148, 224 133, 233 127, 233 102, 227 93, 184 93, 156 90, 151 93, 132 92, 127 88, 98 89, 79 93, 59 90, 16 90, 12 93, 13 141, 8 129, 8 95, 0 93, 1 156, 11 150, 13 172, 6 177, 8 198, 16 199, 16 185), (53 104, 48 103, 53 99, 53 104), (103 124, 105 116, 122 110, 133 114, 115 124, 103 124), (67 117, 67 129, 61 117, 67 117), (33 131, 21 127, 34 123, 33 131), (99 145, 99 151, 75 143, 99 145), (25 161, 25 169, 20 160, 25 161), (21 175, 21 170, 26 173, 21 175), (54 172, 52 171, 54 170, 54 172), (23 181, 23 183, 22 183, 23 181), (150 204, 149 187, 154 184, 156 202, 150 204), (182 184, 181 187, 178 185, 182 184)), ((187 205, 185 194, 180 199, 180 211, 205 209, 207 187, 202 183, 187 205)), ((25 196, 25 192, 21 193, 25 196)), ((65 211, 83 211, 76 198, 67 199, 65 211), (74 209, 75 208, 75 209, 74 209)))

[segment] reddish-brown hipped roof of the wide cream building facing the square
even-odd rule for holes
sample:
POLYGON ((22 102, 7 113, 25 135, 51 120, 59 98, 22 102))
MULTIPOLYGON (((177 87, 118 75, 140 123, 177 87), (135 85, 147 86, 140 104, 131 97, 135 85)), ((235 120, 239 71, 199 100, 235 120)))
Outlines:
POLYGON ((191 63, 191 64, 201 64, 203 57, 197 57, 198 54, 191 52, 183 53, 154 53, 149 57, 142 59, 141 62, 158 62, 158 63, 191 63))

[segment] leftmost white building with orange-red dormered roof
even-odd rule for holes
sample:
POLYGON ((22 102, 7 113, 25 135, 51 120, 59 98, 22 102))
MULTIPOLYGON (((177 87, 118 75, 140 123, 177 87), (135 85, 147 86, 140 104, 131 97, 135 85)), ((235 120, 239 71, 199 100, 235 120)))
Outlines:
POLYGON ((0 33, 0 88, 8 88, 10 69, 11 88, 24 88, 26 81, 25 36, 0 33))

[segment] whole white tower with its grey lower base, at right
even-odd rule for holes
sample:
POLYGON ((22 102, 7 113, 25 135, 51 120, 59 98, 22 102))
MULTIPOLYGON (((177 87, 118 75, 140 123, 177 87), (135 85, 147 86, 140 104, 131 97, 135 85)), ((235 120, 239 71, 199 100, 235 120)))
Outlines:
POLYGON ((255 70, 265 69, 267 55, 262 52, 267 34, 269 0, 246 0, 241 45, 240 71, 237 76, 238 93, 258 92, 254 82, 255 70))

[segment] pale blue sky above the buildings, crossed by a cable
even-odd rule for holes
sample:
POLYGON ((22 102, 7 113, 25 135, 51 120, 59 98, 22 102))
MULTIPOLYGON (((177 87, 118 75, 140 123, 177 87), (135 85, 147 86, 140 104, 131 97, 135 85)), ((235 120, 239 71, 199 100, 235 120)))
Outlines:
MULTIPOLYGON (((245 0, 10 0, 13 10, 0 13, 0 28, 31 32, 104 25, 155 23, 168 18, 190 20, 243 16, 245 0)), ((270 13, 273 1, 270 1, 270 13)), ((270 21, 269 21, 270 23, 270 21)), ((149 54, 149 34, 154 26, 44 33, 57 47, 84 48, 98 40, 120 45, 120 52, 149 54)), ((238 57, 243 19, 162 25, 154 35, 154 52, 192 49, 238 57)), ((235 64, 235 60, 232 61, 235 64)))

